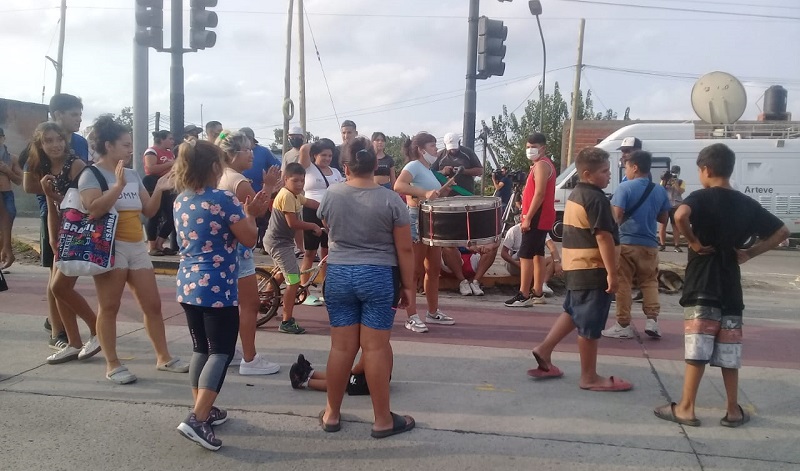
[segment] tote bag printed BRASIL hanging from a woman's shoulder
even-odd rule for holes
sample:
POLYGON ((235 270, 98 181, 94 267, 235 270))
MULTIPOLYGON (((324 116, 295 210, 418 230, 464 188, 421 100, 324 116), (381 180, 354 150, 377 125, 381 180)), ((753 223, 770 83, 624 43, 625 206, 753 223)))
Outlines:
MULTIPOLYGON (((94 173, 100 189, 108 191, 108 182, 100 170, 90 165, 83 171, 87 169, 94 173)), ((83 207, 77 188, 67 190, 61 210, 56 267, 67 276, 94 276, 111 270, 119 220, 117 210, 112 207, 104 216, 92 218, 83 207)))

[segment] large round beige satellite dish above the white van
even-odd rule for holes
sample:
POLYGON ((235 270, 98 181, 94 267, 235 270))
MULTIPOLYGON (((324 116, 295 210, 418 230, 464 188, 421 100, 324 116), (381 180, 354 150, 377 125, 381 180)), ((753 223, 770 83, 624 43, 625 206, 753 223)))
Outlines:
POLYGON ((726 72, 710 72, 692 87, 692 108, 709 124, 732 124, 744 114, 747 93, 742 83, 726 72))

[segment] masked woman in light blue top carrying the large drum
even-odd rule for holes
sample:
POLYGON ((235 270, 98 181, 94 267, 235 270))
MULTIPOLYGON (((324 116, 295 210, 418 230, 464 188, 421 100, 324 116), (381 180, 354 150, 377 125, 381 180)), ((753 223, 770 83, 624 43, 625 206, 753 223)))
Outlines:
POLYGON ((416 309, 411 309, 408 311, 406 329, 422 333, 428 331, 426 322, 441 325, 455 324, 452 317, 439 310, 442 249, 422 244, 419 235, 419 203, 446 196, 449 189, 442 189, 441 183, 430 169, 436 162, 435 137, 421 132, 403 143, 403 153, 406 156, 406 165, 395 181, 394 190, 406 196, 408 214, 411 218, 411 239, 414 242, 414 269, 418 280, 424 278, 425 298, 428 301, 425 322, 417 315, 416 309))

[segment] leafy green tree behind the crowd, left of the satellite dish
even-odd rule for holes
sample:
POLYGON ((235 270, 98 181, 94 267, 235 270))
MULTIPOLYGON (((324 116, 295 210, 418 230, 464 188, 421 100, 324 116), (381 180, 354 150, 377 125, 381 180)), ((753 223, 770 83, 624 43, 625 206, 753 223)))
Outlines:
MULTIPOLYGON (((578 119, 617 119, 617 113, 608 109, 595 112, 592 91, 586 92, 584 99, 583 93, 578 92, 578 119)), ((547 148, 553 153, 556 168, 561 163, 561 137, 564 123, 570 119, 570 106, 561 94, 561 87, 556 82, 552 94, 545 94, 545 118, 544 125, 540 121, 539 100, 528 100, 522 115, 517 118, 515 113, 509 113, 504 105, 502 112, 497 116, 492 116, 489 125, 490 146, 497 154, 500 165, 508 165, 514 170, 527 170, 530 163, 525 157, 525 141, 533 132, 543 132, 547 136, 547 148)), ((628 117, 630 108, 626 109, 625 116, 628 117)))

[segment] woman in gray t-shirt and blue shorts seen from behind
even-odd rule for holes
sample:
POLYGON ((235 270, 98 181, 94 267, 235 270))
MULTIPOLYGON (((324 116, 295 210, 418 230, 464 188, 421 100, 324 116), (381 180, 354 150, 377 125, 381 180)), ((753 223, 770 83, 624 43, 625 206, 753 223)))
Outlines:
POLYGON ((389 410, 395 310, 414 307, 414 258, 408 210, 400 197, 374 181, 375 156, 357 139, 344 155, 347 181, 331 185, 318 216, 328 227, 325 305, 331 325, 328 404, 320 414, 326 432, 340 428, 342 398, 359 347, 372 396, 372 436, 414 428, 414 419, 389 410), (358 208, 358 211, 353 211, 358 208))

